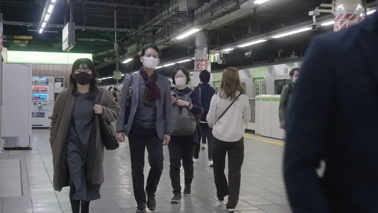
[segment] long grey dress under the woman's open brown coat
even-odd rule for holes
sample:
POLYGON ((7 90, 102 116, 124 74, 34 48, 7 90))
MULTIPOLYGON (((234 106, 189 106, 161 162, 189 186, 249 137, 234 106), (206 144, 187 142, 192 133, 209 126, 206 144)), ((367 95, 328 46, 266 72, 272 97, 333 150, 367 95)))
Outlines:
POLYGON ((89 99, 89 95, 89 93, 77 93, 71 127, 67 135, 70 184, 76 189, 72 199, 84 201, 100 199, 100 185, 87 183, 86 177, 88 152, 95 146, 94 102, 89 99))

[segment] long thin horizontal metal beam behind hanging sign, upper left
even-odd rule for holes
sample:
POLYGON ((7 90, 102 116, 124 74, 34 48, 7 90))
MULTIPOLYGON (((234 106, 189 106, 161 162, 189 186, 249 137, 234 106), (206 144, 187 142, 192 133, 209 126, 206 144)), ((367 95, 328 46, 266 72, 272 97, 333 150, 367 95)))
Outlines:
MULTIPOLYGON (((29 22, 12 22, 4 21, 4 25, 15 25, 15 26, 29 26, 29 27, 38 27, 39 23, 29 23, 29 22)), ((47 24, 45 28, 64 28, 62 24, 47 24)), ((84 27, 84 26, 75 26, 76 30, 93 30, 93 31, 117 31, 122 33, 134 32, 132 29, 116 29, 108 27, 84 27)))

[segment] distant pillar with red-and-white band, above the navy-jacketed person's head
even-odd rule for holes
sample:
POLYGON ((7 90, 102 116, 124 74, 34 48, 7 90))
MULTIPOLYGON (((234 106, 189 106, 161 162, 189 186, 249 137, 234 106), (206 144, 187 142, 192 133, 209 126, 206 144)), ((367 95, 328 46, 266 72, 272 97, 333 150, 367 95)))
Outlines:
MULTIPOLYGON (((192 86, 200 83, 200 72, 208 70, 208 35, 204 31, 198 31, 195 36, 194 72, 192 86)), ((211 70, 208 70, 209 72, 211 70)))

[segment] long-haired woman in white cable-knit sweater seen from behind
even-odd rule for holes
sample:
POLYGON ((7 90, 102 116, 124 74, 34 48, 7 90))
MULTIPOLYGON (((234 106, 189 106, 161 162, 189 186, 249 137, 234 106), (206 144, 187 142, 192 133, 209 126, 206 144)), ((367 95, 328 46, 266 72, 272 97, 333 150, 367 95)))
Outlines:
POLYGON ((234 212, 239 200, 245 124, 251 119, 248 97, 236 68, 228 67, 224 70, 220 91, 212 97, 206 119, 209 127, 213 128, 214 135, 214 181, 217 197, 220 202, 224 202, 228 195, 226 210, 234 212), (225 175, 227 152, 229 184, 225 175))

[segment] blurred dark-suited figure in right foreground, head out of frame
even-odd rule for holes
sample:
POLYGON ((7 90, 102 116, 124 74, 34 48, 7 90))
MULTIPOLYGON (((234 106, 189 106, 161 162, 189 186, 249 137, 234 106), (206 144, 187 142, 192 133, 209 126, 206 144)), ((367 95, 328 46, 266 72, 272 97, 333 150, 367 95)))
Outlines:
POLYGON ((311 41, 286 122, 293 213, 378 212, 377 50, 377 12, 311 41))

